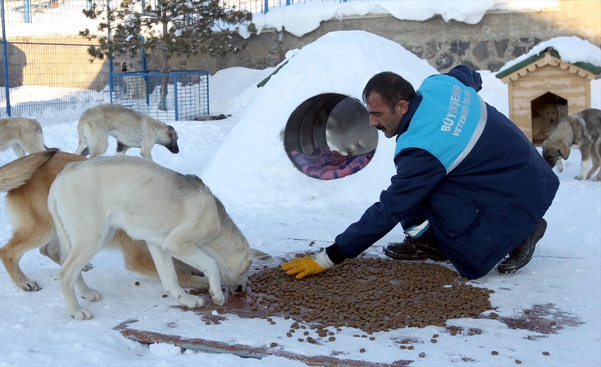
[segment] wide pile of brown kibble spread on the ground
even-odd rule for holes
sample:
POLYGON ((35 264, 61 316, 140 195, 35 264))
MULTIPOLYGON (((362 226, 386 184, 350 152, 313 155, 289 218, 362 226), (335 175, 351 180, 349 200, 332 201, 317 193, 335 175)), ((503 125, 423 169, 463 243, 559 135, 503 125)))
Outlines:
POLYGON ((467 284, 442 265, 368 257, 349 259, 303 279, 279 267, 264 267, 249 282, 252 310, 261 307, 269 315, 296 322, 355 327, 366 333, 445 326, 447 319, 490 310, 489 294, 494 292, 467 284))

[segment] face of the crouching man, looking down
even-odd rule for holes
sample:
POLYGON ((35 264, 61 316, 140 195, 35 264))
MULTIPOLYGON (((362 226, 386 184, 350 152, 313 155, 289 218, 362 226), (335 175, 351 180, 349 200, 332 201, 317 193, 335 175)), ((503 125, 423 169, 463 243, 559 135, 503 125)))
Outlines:
POLYGON ((383 102, 378 94, 371 94, 366 99, 367 112, 370 114, 370 126, 382 131, 386 138, 395 137, 398 134, 398 124, 407 113, 409 103, 400 100, 391 111, 390 107, 383 102))

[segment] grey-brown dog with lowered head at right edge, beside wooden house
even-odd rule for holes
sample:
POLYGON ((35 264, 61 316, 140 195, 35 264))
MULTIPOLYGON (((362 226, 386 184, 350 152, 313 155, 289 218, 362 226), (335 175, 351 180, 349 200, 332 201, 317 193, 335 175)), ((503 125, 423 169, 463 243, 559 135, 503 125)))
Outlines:
MULTIPOLYGON (((574 178, 588 179, 601 165, 601 109, 588 108, 564 117, 553 134, 543 142, 543 157, 551 167, 557 164, 561 172, 561 158, 570 156, 572 144, 579 147, 582 155, 580 173, 574 178), (593 162, 590 170, 589 160, 593 162)), ((593 180, 601 180, 601 170, 593 180)))

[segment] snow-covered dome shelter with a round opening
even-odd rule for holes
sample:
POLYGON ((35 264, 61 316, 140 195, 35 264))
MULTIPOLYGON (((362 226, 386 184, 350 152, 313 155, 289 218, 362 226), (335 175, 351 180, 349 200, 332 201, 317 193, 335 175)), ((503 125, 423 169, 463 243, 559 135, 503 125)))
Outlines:
POLYGON ((288 52, 287 63, 260 88, 207 165, 204 182, 241 206, 316 209, 337 200, 377 201, 395 173, 395 140, 368 127, 359 101, 367 81, 383 71, 402 75, 416 89, 438 73, 398 43, 365 31, 330 32, 288 52), (329 180, 307 176, 290 159, 291 150, 310 154, 324 145, 353 155, 375 150, 361 170, 329 180), (343 199, 341 192, 356 195, 343 199))

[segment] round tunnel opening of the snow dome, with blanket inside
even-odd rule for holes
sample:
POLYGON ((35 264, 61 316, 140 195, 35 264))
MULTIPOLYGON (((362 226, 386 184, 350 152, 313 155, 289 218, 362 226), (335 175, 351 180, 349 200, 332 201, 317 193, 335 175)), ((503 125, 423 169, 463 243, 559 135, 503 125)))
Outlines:
POLYGON ((377 146, 377 130, 356 99, 325 93, 301 103, 288 118, 284 149, 299 170, 318 179, 356 173, 377 146))

